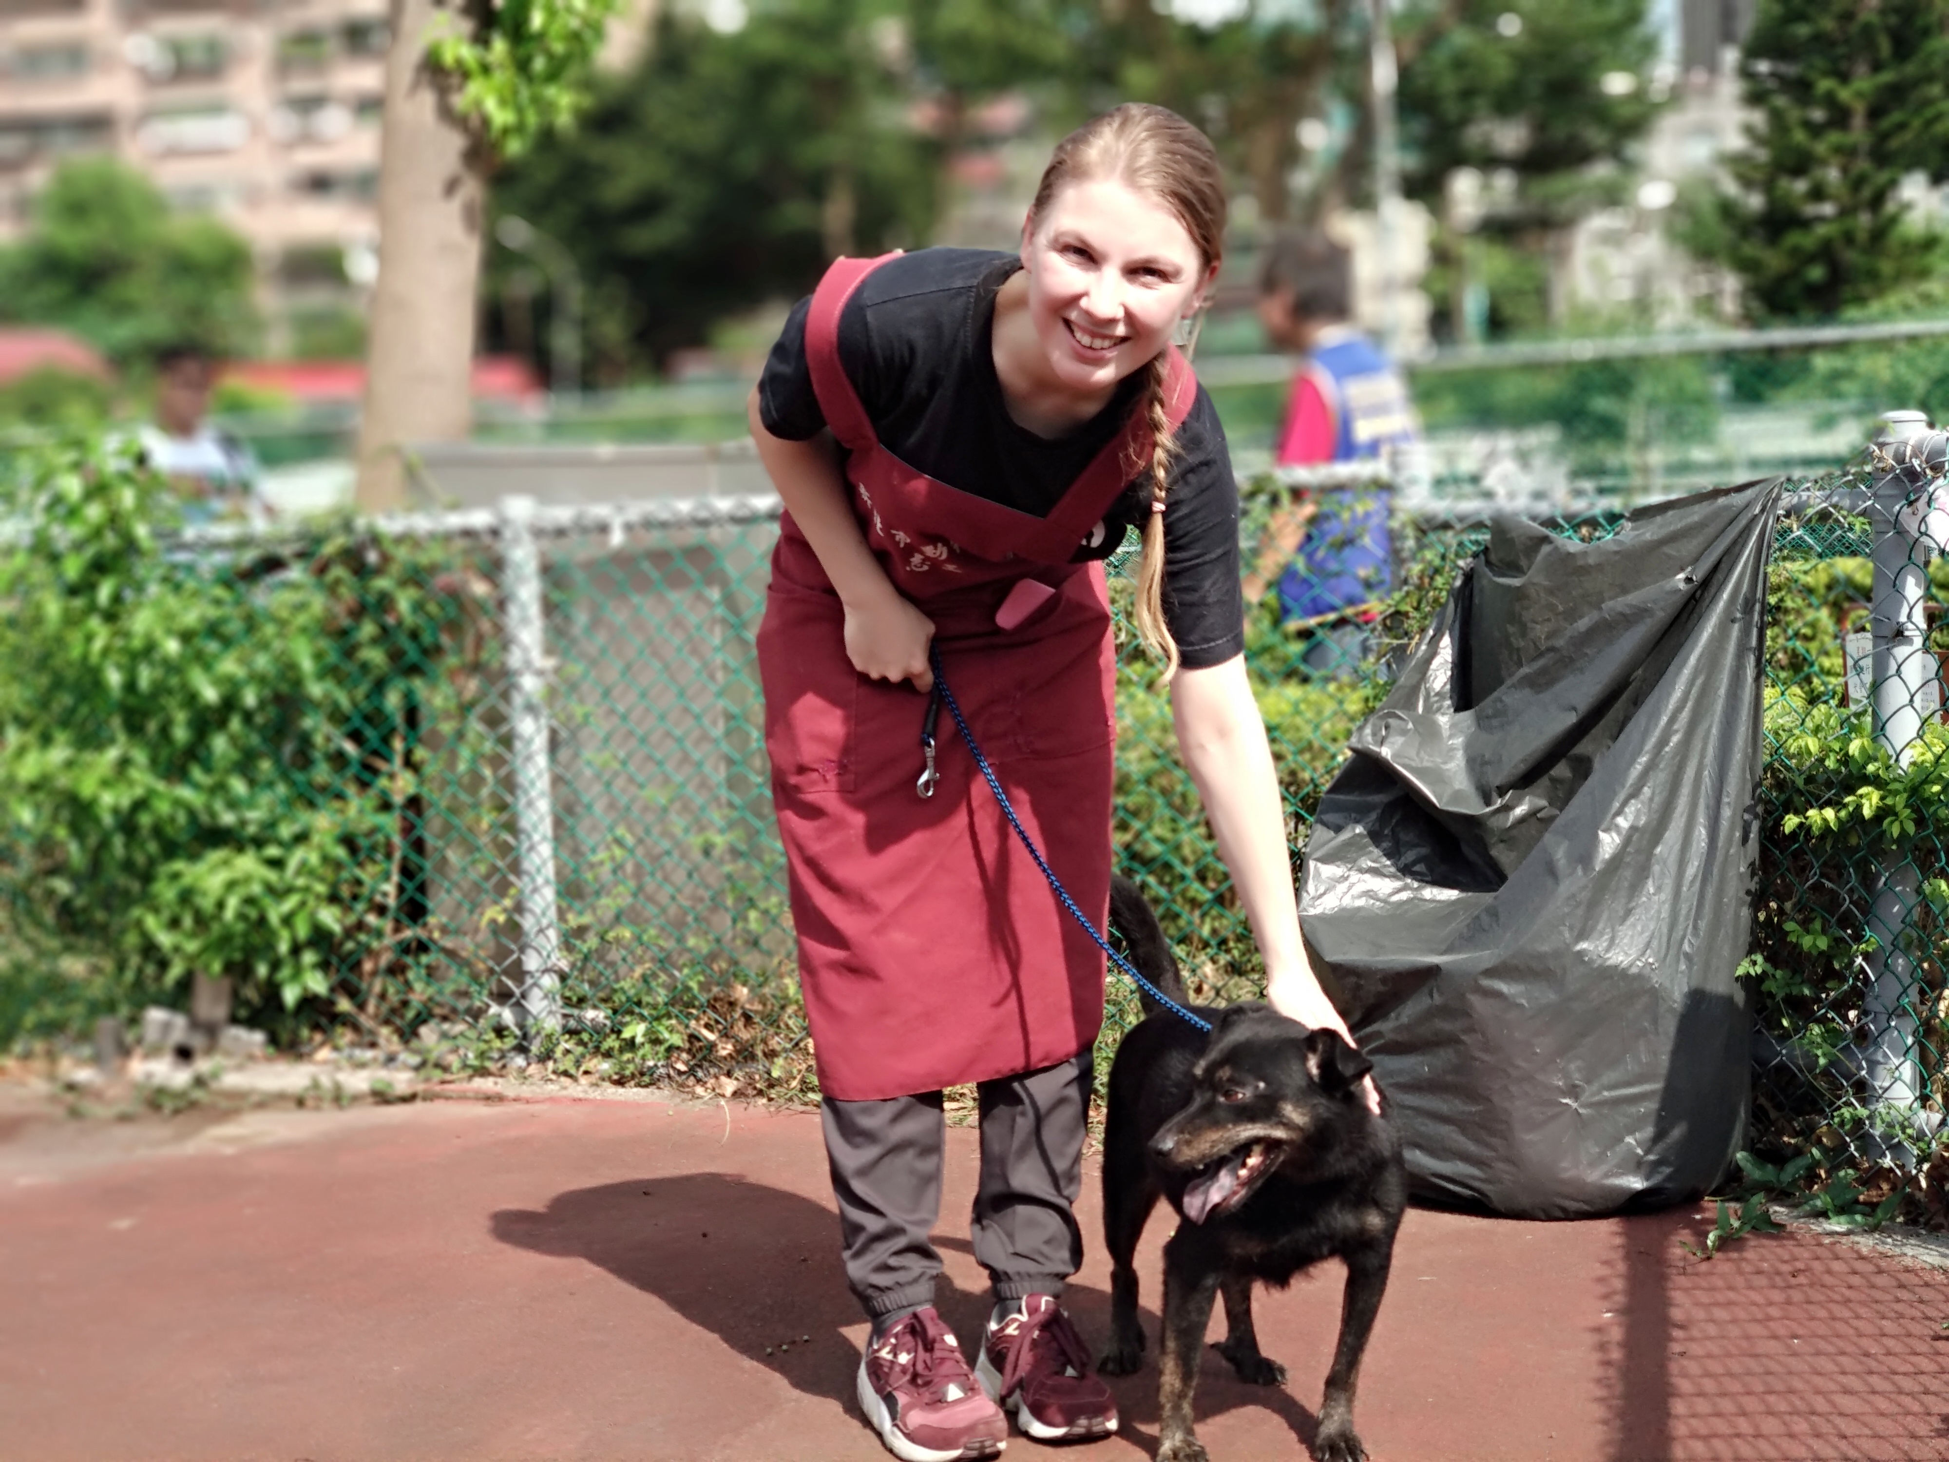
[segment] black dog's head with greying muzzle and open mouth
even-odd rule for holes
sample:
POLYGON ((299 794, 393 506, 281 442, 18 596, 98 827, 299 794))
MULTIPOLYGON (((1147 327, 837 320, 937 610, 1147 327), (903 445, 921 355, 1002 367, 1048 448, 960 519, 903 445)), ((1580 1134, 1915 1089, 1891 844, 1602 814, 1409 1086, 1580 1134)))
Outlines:
POLYGON ((1282 1166, 1308 1164, 1364 1117, 1372 1062, 1339 1031, 1314 1031, 1269 1006, 1234 1006, 1191 1068, 1191 1099, 1158 1129, 1150 1156, 1183 1175, 1185 1218, 1236 1212, 1282 1166))

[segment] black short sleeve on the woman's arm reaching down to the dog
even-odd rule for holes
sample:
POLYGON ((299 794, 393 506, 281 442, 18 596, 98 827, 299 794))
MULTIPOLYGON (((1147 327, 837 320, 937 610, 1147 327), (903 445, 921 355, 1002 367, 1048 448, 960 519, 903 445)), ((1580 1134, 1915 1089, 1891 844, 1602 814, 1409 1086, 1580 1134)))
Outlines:
POLYGON ((1238 478, 1203 386, 1179 442, 1164 511, 1164 622, 1185 669, 1203 671, 1245 653, 1238 478))

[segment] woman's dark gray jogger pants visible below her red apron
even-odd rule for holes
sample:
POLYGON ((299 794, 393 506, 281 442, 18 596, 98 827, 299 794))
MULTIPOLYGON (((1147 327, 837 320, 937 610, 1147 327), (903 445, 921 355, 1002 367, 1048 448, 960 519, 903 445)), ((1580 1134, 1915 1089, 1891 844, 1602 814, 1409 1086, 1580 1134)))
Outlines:
MULTIPOLYGON (((1060 1294, 1084 1259, 1076 1226, 1091 1057, 982 1082, 974 1257, 996 1298, 1060 1294)), ((846 1283, 869 1316, 934 1304, 941 1255, 928 1238, 941 1212, 947 1121, 941 1094, 821 1107, 840 1203, 846 1283)))

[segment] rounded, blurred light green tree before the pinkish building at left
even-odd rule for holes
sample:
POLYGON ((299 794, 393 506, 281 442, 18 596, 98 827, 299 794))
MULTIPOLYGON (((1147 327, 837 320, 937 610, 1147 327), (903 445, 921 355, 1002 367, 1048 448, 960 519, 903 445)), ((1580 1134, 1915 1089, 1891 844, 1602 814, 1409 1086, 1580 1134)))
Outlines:
POLYGON ((249 246, 224 224, 173 216, 142 173, 80 158, 0 248, 0 320, 62 326, 123 366, 164 345, 226 355, 255 335, 251 283, 249 246))

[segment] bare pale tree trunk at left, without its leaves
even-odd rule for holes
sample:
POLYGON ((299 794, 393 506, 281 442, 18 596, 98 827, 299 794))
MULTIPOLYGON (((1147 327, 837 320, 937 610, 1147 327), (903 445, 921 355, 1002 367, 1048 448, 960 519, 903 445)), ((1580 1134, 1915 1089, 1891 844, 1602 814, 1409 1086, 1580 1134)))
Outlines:
POLYGON ((378 285, 359 421, 363 513, 405 501, 403 448, 464 441, 472 425, 481 154, 427 68, 427 27, 454 12, 392 0, 380 133, 378 285))

